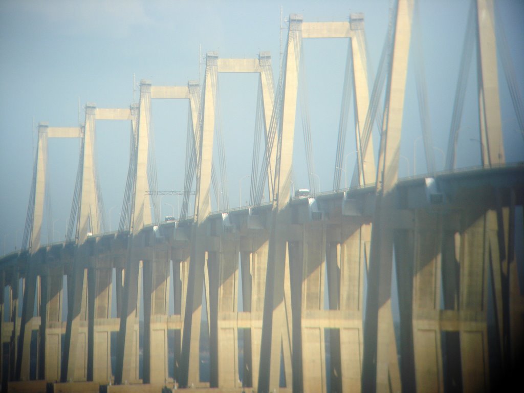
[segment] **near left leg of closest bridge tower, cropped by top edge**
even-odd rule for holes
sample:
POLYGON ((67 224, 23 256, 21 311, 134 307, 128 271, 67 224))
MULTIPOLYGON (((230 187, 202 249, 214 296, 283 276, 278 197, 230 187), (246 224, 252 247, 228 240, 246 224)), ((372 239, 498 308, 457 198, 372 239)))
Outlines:
POLYGON ((377 169, 377 197, 373 220, 364 329, 362 389, 401 390, 395 332, 391 314, 393 228, 391 211, 398 179, 400 135, 408 71, 413 0, 399 0, 386 97, 387 106, 377 169))

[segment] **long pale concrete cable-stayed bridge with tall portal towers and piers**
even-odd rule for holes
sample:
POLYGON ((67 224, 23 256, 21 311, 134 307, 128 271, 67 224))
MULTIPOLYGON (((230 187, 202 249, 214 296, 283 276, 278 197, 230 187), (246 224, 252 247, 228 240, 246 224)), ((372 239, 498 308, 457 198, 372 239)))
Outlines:
POLYGON ((392 7, 374 79, 362 14, 337 22, 292 14, 276 85, 268 52, 208 52, 202 85, 143 80, 129 107, 86 104, 77 127, 39 123, 23 246, 0 258, 2 390, 476 392, 518 370, 524 165, 506 162, 497 59, 520 129, 524 111, 507 42, 495 34, 493 2, 472 2, 442 171, 416 65, 427 173, 399 179, 410 46, 421 50, 417 12, 413 0, 392 7), (350 42, 330 190, 315 179, 303 104, 309 38, 350 42), (456 168, 472 48, 481 165, 456 168), (221 72, 259 78, 249 203, 237 208, 228 199, 221 72), (183 190, 156 187, 150 141, 158 99, 189 100, 183 190), (351 99, 356 169, 346 184, 351 99), (307 190, 292 182, 298 113, 307 190), (98 121, 130 124, 117 231, 104 231, 98 121), (65 240, 42 244, 54 138, 77 138, 81 149, 65 240), (158 197, 170 193, 183 196, 179 217, 161 220, 158 197))

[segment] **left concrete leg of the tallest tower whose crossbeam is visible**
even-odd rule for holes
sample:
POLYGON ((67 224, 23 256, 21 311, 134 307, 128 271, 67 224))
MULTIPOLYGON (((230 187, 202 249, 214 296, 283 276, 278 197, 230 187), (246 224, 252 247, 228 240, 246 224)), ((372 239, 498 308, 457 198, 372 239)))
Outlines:
MULTIPOLYGON (((287 258, 286 224, 290 222, 289 211, 285 207, 289 202, 291 188, 291 163, 293 158, 294 123, 297 108, 298 64, 300 53, 300 31, 302 17, 291 15, 289 20, 288 46, 286 49, 286 68, 283 98, 282 121, 280 124, 281 149, 277 161, 280 166, 275 173, 275 193, 277 206, 269 216, 270 239, 268 247, 268 263, 266 289, 264 296, 264 319, 261 339, 271 343, 261 347, 260 367, 258 375, 258 390, 269 391, 278 388, 280 377, 280 354, 285 346, 284 356, 291 358, 292 321, 286 318, 286 291, 290 292, 290 283, 285 280, 286 269, 289 269, 287 258), (286 287, 286 288, 285 288, 286 287), (282 338, 287 335, 282 343, 282 338)), ((289 277, 289 274, 288 274, 289 277)), ((289 304, 289 308, 291 304, 289 304)), ((290 367, 288 367, 289 370, 290 367)), ((289 372, 289 371, 288 371, 289 372)), ((287 380, 290 384, 291 381, 287 380)))

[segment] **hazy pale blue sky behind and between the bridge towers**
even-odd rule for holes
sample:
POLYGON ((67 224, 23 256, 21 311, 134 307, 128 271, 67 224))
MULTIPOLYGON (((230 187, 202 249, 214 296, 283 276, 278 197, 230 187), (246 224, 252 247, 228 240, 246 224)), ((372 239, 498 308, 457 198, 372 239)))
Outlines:
MULTIPOLYGON (((509 39, 520 94, 524 92, 524 2, 497 2, 509 39)), ((369 61, 376 71, 388 24, 391 2, 375 1, 0 1, 0 254, 20 246, 31 185, 36 125, 77 126, 78 101, 97 107, 128 107, 136 80, 154 85, 186 85, 203 78, 201 56, 217 51, 220 57, 272 55, 275 83, 279 71, 280 6, 283 17, 303 14, 304 21, 347 20, 352 12, 365 14, 369 61)), ((435 163, 442 169, 447 148, 452 103, 459 70, 468 1, 421 0, 422 42, 431 107, 435 163), (439 150, 440 149, 440 150, 439 150)), ((284 42, 287 24, 282 31, 284 42)), ((315 174, 323 191, 333 183, 342 82, 348 42, 304 40, 305 80, 308 85, 315 174)), ((474 54, 475 56, 475 54, 474 54)), ((474 58, 475 59, 475 58, 474 58)), ((459 137, 457 166, 479 164, 475 62, 471 66, 459 137)), ((369 84, 372 85, 370 80, 369 84)), ((524 160, 524 142, 509 99, 499 62, 500 99, 507 161, 524 160)), ((425 171, 413 62, 408 68, 406 110, 399 163, 400 176, 425 171), (416 155, 416 157, 414 157, 416 155), (409 173, 408 173, 409 167, 409 173)), ((232 207, 248 199, 256 74, 221 74, 222 129, 224 130, 228 189, 232 207)), ((138 93, 137 93, 138 97, 138 93)), ((154 100, 158 188, 183 188, 187 101, 154 100)), ((352 111, 351 111, 352 113, 352 111)), ((350 116, 350 124, 353 117, 350 116)), ((300 118, 294 159, 296 188, 309 188, 303 154, 300 118)), ((375 133, 375 146, 378 138, 375 133)), ((106 227, 115 229, 121 211, 128 166, 129 124, 96 123, 96 154, 106 209, 106 227), (110 212, 111 209, 111 212, 110 212)), ((345 153, 355 150, 353 127, 345 153)), ((50 139, 49 186, 53 237, 62 239, 71 209, 79 143, 50 139)), ((347 157, 351 181, 354 155, 347 157)), ((345 166, 344 165, 344 166, 345 166)), ((344 168, 345 169, 345 168, 344 168)), ((343 172, 344 174, 344 172, 343 172)), ((343 182, 343 181, 342 181, 343 182)), ((178 216, 178 200, 162 199, 162 215, 178 216)), ((47 242, 43 231, 42 242, 47 242)))

